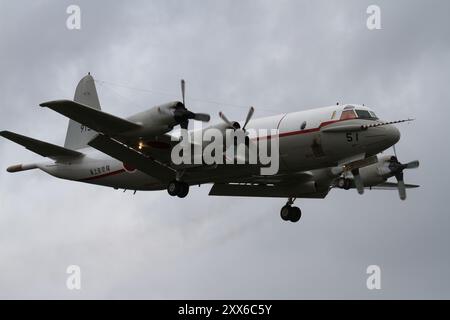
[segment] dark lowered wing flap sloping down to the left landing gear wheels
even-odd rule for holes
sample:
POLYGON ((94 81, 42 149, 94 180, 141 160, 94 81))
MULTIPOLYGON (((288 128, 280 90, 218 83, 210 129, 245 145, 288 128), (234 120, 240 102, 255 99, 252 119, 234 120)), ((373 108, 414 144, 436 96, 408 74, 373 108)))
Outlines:
POLYGON ((89 145, 160 181, 175 179, 176 172, 172 168, 164 166, 143 153, 102 134, 90 141, 89 145))

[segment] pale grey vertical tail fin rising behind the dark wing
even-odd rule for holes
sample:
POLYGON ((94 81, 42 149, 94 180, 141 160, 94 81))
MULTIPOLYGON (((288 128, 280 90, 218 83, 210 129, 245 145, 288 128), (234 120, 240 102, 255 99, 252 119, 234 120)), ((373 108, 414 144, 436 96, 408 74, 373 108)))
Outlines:
MULTIPOLYGON (((90 73, 78 83, 74 101, 87 105, 93 109, 101 110, 94 78, 90 73)), ((83 126, 74 120, 70 120, 64 147, 71 150, 85 148, 88 146, 87 143, 91 141, 96 134, 95 131, 88 127, 83 126)))

